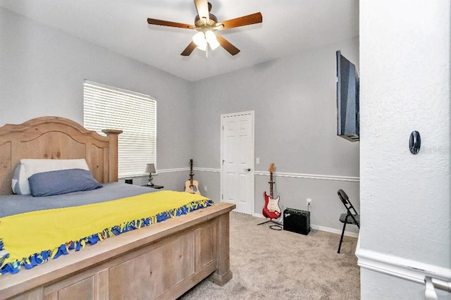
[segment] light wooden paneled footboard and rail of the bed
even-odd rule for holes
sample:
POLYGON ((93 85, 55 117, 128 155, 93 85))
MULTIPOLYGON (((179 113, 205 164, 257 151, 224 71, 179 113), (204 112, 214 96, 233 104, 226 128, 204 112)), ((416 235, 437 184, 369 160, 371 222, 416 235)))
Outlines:
POLYGON ((0 299, 176 299, 205 277, 224 285, 229 213, 220 203, 0 277, 0 299))

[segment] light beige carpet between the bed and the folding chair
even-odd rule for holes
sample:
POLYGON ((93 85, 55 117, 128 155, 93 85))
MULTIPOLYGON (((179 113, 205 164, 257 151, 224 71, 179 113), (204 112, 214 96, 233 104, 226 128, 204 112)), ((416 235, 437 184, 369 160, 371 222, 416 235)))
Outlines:
POLYGON ((360 299, 357 239, 314 230, 299 235, 271 230, 264 221, 230 213, 230 269, 223 287, 203 280, 180 297, 190 299, 360 299))

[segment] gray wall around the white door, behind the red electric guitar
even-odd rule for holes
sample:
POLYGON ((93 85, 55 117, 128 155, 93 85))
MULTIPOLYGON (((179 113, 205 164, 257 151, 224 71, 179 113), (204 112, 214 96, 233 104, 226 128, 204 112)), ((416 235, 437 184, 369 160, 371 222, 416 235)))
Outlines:
MULTIPOLYGON (((268 191, 268 177, 261 172, 267 173, 270 163, 276 164, 275 194, 280 196, 280 207, 307 209, 306 199, 311 198, 312 225, 340 230, 338 215, 345 212, 337 196, 340 188, 359 208, 359 142, 336 135, 337 50, 358 67, 359 39, 355 37, 194 83, 198 168, 217 172, 221 168, 221 114, 255 111, 255 157, 260 158, 255 165, 260 174, 255 177, 257 214, 264 206, 261 195, 268 191)), ((197 171, 196 175, 201 185, 214 187, 209 187, 208 195, 218 199, 219 173, 197 171)), ((349 230, 356 232, 357 227, 349 230)))

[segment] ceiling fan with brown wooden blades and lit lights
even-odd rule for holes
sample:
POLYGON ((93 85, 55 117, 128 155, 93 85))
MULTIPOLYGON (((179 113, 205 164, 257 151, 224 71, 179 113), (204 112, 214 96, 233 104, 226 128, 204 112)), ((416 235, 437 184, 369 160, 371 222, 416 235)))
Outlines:
POLYGON ((257 24, 261 23, 263 20, 261 13, 252 13, 250 15, 244 15, 240 18, 218 22, 218 18, 210 13, 211 4, 207 2, 207 0, 194 0, 194 4, 197 9, 197 15, 196 18, 194 18, 194 25, 152 18, 147 19, 147 23, 150 25, 162 25, 198 31, 194 37, 192 37, 190 44, 180 54, 183 56, 189 56, 196 47, 202 51, 206 51, 206 55, 208 55, 208 46, 214 50, 220 45, 226 49, 228 53, 235 55, 240 52, 240 49, 237 49, 237 47, 230 44, 227 39, 224 39, 221 35, 214 32, 216 30, 227 30, 230 28, 257 24))

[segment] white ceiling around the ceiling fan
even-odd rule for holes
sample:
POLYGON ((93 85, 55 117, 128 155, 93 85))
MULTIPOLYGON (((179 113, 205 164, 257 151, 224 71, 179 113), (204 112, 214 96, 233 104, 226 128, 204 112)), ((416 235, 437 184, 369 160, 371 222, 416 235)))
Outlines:
POLYGON ((0 0, 0 6, 190 81, 297 54, 359 35, 358 0, 210 0, 218 21, 261 12, 263 23, 221 32, 241 50, 180 53, 195 30, 193 0, 0 0))

